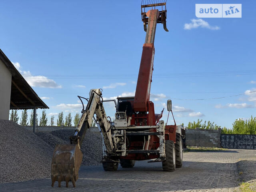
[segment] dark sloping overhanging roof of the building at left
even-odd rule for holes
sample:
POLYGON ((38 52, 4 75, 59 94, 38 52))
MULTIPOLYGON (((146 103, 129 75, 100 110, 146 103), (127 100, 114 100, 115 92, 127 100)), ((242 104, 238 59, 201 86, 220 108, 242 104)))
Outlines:
POLYGON ((12 74, 10 109, 48 109, 1 49, 0 59, 12 74))

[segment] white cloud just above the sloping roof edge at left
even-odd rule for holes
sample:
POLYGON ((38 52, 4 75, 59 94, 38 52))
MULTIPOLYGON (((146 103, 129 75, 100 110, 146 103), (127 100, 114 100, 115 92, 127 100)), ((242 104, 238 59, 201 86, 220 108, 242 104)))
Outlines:
POLYGON ((30 71, 22 71, 21 66, 18 62, 12 62, 16 69, 22 74, 24 79, 32 87, 43 87, 43 88, 62 88, 61 85, 58 85, 54 80, 49 79, 45 76, 33 76, 30 71))

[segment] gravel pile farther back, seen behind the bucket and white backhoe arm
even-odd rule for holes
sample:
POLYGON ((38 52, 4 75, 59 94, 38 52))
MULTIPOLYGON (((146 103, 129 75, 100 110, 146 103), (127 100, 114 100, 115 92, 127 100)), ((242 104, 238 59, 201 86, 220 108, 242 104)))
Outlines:
MULTIPOLYGON (((74 130, 56 130, 50 133, 66 142, 70 142, 69 137, 74 134, 74 130)), ((82 166, 99 165, 102 158, 102 136, 88 130, 81 151, 83 153, 82 166)))

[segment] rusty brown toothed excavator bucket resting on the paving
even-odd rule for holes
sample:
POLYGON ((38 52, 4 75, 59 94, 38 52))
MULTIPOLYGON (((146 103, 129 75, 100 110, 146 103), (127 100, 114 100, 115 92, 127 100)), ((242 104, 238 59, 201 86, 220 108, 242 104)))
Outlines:
POLYGON ((76 144, 56 145, 52 157, 52 187, 58 181, 58 186, 62 181, 72 182, 75 187, 78 180, 78 170, 82 162, 83 154, 76 144))

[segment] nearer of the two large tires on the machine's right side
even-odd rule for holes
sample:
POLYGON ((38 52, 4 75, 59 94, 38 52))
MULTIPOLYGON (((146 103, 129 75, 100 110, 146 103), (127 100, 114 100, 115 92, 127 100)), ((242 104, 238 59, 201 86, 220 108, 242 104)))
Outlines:
POLYGON ((174 142, 171 140, 165 141, 165 155, 166 155, 166 160, 162 162, 163 170, 175 171, 175 168, 176 168, 175 146, 174 146, 174 142))

